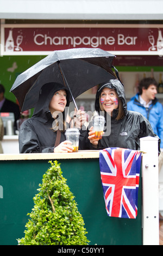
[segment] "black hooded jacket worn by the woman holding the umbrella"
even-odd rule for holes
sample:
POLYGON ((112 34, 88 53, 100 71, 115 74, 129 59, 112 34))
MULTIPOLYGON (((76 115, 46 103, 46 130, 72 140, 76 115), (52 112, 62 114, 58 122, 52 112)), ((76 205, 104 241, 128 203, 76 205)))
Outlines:
MULTIPOLYGON (((55 92, 61 89, 66 90, 66 106, 68 107, 70 93, 64 86, 58 83, 48 83, 42 87, 32 118, 24 121, 21 125, 19 133, 20 153, 52 153, 54 151, 57 131, 52 129, 54 118, 49 111, 49 102, 55 92)), ((64 112, 63 117, 65 116, 64 112)), ((61 131, 60 143, 65 140, 65 132, 61 131)))

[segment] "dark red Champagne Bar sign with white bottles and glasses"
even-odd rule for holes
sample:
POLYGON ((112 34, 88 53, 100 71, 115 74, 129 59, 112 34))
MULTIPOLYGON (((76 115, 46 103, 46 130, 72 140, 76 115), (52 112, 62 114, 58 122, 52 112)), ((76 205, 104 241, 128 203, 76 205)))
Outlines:
POLYGON ((1 25, 1 56, 68 48, 163 56, 163 25, 1 25))

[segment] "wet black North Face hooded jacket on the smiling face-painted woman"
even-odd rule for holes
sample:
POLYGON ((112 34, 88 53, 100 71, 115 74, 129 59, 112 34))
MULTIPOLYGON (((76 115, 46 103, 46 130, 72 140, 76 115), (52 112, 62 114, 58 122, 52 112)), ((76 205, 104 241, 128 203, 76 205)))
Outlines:
MULTIPOLYGON (((140 150, 140 138, 146 136, 158 138, 158 136, 156 136, 153 132, 151 124, 145 117, 143 117, 142 114, 127 110, 124 87, 118 80, 110 80, 108 83, 103 83, 99 87, 95 100, 95 109, 98 113, 101 111, 99 106, 99 96, 101 95, 104 87, 116 90, 119 99, 122 100, 124 117, 123 119, 116 120, 118 109, 114 109, 110 123, 105 124, 106 131, 109 129, 108 131, 110 131, 110 135, 105 136, 106 133, 108 133, 105 131, 102 139, 100 139, 98 142, 98 149, 120 147, 140 150)), ((105 120, 110 120, 105 111, 104 114, 105 120)))

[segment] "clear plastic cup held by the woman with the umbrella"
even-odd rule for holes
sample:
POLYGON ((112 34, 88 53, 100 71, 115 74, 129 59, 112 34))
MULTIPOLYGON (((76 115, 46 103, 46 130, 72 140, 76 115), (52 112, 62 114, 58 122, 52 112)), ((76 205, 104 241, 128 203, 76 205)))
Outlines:
POLYGON ((71 146, 73 147, 72 152, 78 152, 79 136, 80 136, 79 130, 77 128, 69 128, 66 130, 65 135, 66 135, 66 140, 72 142, 71 144, 71 146))

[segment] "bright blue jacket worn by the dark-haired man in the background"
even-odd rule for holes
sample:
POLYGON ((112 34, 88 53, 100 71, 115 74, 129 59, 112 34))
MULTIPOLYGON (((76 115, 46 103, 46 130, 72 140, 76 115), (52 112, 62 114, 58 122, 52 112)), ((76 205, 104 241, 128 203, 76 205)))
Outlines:
POLYGON ((127 103, 128 110, 136 111, 141 113, 145 118, 149 120, 149 123, 152 126, 152 129, 156 135, 161 139, 160 148, 163 148, 163 108, 162 104, 155 97, 152 100, 151 105, 148 108, 143 106, 140 103, 139 95, 136 94, 131 100, 127 103))

